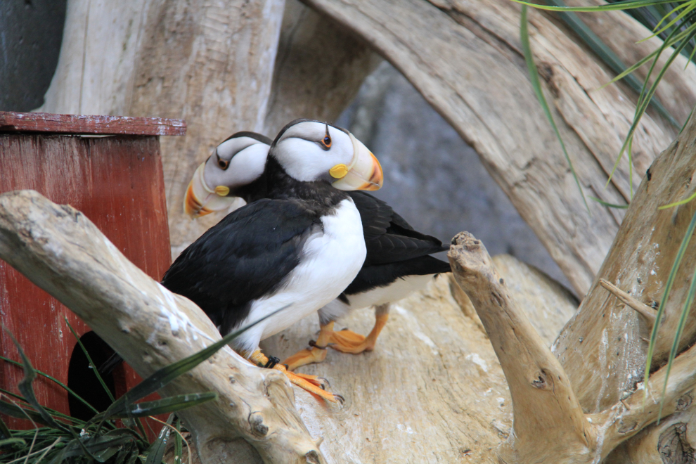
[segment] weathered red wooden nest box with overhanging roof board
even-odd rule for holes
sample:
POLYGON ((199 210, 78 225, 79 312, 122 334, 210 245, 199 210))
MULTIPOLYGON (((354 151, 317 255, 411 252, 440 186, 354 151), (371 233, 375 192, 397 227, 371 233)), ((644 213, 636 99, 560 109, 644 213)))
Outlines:
MULTIPOLYGON (((72 205, 159 281, 171 264, 159 136, 185 133, 182 120, 0 112, 0 193, 33 189, 53 202, 72 205)), ((34 368, 86 396, 101 393, 101 399, 90 401, 103 401, 105 392, 65 318, 97 366, 110 348, 69 309, 1 260, 0 317, 34 368)), ((2 330, 0 353, 20 359, 2 330)), ((22 377, 21 368, 0 361, 0 388, 18 392, 22 377)), ((119 397, 140 378, 122 365, 105 380, 119 397)), ((33 386, 40 404, 81 414, 78 402, 50 380, 39 376, 33 386)), ((4 419, 11 428, 32 427, 26 420, 4 419)))

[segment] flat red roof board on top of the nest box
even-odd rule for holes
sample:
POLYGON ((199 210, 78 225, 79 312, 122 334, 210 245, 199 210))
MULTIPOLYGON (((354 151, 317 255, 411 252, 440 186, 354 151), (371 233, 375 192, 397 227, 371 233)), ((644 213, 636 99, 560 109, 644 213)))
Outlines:
POLYGON ((51 132, 101 135, 183 135, 186 122, 163 117, 54 115, 0 111, 0 132, 51 132))

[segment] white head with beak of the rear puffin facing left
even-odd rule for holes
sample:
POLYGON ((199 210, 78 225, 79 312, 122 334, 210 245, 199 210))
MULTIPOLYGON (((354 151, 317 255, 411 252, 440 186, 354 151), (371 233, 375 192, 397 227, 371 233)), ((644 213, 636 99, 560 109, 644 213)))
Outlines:
POLYGON ((215 148, 188 183, 183 210, 191 217, 224 210, 236 189, 259 179, 266 168, 271 139, 254 132, 237 132, 215 148))

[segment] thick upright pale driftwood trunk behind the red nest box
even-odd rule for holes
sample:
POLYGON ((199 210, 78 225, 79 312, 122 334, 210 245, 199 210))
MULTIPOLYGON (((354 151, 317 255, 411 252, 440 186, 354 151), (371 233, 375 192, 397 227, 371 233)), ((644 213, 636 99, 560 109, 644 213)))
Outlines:
POLYGON ((195 167, 240 130, 262 131, 283 0, 69 0, 45 112, 185 119, 162 138, 172 254, 224 212, 191 221, 183 195, 195 167))

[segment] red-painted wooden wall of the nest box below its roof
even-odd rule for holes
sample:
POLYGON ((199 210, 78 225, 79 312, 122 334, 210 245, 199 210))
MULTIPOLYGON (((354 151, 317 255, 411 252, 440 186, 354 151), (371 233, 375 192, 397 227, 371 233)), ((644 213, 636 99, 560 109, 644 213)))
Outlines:
MULTIPOLYGON (((75 205, 131 261, 159 280, 171 262, 160 146, 156 137, 0 134, 0 193, 30 188, 57 202, 75 205)), ((75 339, 90 330, 82 320, 27 278, 0 262, 0 314, 35 368, 67 384, 75 339)), ((4 331, 0 352, 19 354, 4 331)), ((118 372, 132 387, 139 378, 130 368, 118 372)), ((22 370, 0 363, 0 386, 16 392, 22 370)), ((70 413, 66 392, 39 378, 41 404, 70 413)), ((27 423, 23 423, 25 427, 27 423)))

